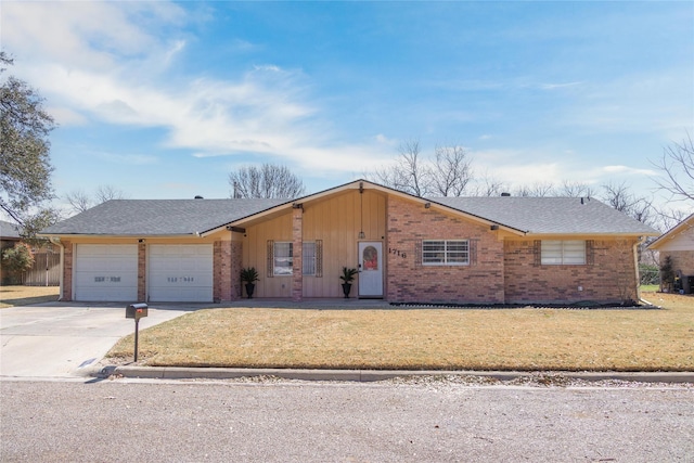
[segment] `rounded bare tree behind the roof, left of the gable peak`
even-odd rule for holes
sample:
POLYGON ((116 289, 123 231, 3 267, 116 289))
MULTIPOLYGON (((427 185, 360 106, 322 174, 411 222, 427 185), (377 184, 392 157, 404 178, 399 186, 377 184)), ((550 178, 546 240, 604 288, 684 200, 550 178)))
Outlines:
POLYGON ((231 197, 295 198, 305 194, 304 182, 285 166, 264 164, 229 173, 231 197))

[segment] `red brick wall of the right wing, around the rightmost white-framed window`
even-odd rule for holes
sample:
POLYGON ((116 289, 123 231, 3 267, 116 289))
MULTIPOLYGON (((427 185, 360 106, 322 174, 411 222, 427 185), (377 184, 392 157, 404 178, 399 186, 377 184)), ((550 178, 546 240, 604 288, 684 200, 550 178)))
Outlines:
POLYGON ((620 304, 626 299, 637 300, 635 241, 597 240, 591 243, 587 265, 542 266, 536 263, 534 240, 506 241, 506 303, 593 300, 620 304))

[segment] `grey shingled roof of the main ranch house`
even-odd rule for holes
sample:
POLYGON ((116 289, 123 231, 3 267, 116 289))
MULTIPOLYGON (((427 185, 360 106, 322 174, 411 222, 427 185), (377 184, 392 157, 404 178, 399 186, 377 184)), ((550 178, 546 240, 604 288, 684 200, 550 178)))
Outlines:
MULTIPOLYGON (((659 233, 626 214, 593 198, 581 197, 436 197, 421 198, 386 187, 357 180, 295 200, 304 203, 343 189, 371 188, 430 202, 449 210, 477 217, 525 234, 659 233)), ((277 206, 291 207, 293 200, 112 200, 41 231, 42 235, 188 235, 203 234, 249 218, 277 206)))

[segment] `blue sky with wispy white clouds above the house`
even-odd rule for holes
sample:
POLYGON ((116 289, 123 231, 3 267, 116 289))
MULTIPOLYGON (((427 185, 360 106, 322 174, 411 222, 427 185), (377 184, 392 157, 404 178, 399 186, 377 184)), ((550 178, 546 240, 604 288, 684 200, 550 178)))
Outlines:
POLYGON ((626 182, 694 133, 692 2, 14 2, 10 73, 46 98, 59 195, 228 197, 240 166, 309 192, 464 146, 512 185, 626 182))

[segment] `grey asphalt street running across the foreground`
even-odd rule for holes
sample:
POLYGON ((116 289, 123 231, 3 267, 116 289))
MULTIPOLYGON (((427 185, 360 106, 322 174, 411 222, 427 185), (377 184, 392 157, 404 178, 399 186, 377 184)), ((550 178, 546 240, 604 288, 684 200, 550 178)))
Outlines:
POLYGON ((694 390, 2 381, 3 462, 691 462, 694 390))

